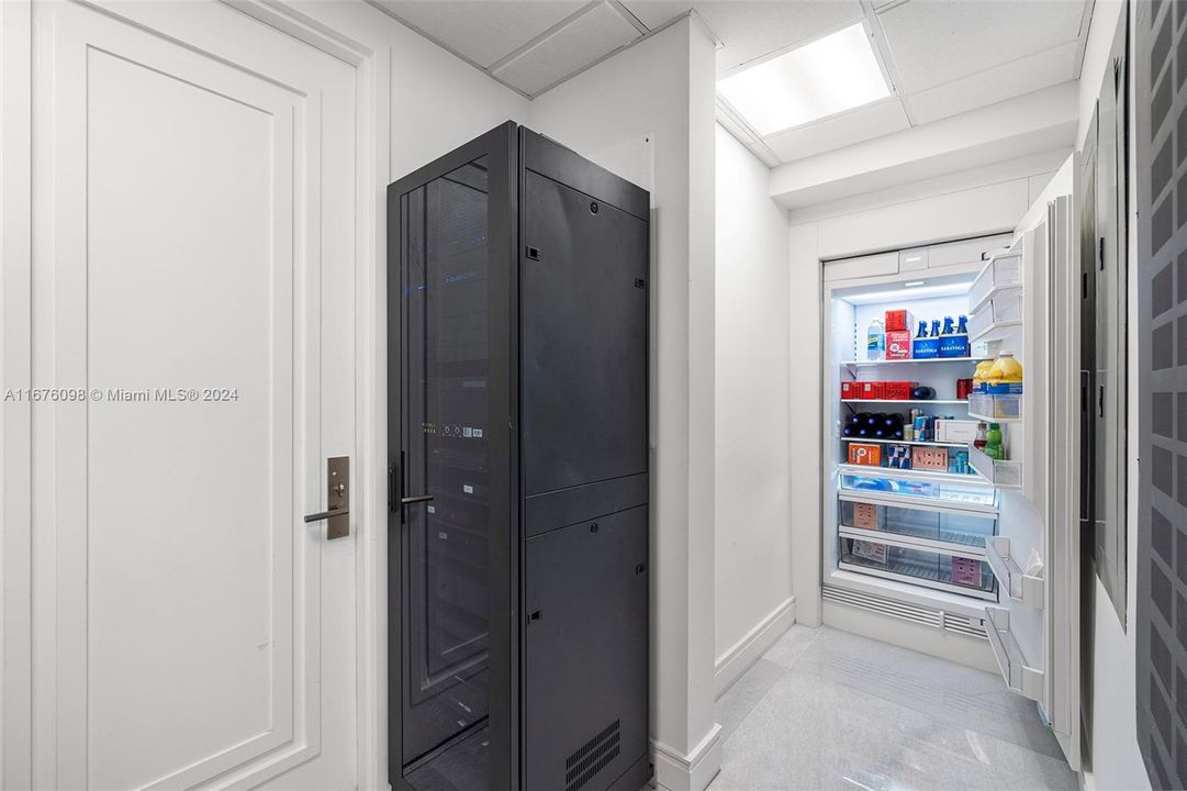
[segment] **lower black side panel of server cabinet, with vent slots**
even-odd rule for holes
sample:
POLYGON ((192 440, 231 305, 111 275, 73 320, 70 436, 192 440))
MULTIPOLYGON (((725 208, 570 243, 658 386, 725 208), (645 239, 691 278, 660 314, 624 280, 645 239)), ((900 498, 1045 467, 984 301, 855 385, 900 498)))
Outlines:
POLYGON ((647 754, 647 507, 533 536, 526 578, 523 787, 610 787, 647 754))

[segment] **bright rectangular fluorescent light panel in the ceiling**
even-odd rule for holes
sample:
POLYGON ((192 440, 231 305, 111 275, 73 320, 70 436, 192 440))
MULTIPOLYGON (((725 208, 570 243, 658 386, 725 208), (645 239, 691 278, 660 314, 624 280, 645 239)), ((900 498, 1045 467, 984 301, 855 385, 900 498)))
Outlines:
POLYGON ((717 89, 762 135, 890 95, 861 24, 725 77, 717 89))

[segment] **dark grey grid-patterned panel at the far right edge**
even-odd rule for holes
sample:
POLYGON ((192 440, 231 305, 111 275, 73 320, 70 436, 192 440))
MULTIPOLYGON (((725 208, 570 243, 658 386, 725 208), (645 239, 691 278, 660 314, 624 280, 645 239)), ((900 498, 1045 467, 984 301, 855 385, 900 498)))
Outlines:
POLYGON ((1137 4, 1137 728, 1151 784, 1187 786, 1187 27, 1137 4), (1145 55, 1141 55, 1145 53, 1145 55))

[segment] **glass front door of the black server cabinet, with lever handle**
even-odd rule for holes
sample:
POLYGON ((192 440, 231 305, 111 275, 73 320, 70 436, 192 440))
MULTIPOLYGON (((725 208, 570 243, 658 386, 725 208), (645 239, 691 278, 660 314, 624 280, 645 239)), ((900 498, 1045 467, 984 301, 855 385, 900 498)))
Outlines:
POLYGON ((518 777, 515 129, 496 127, 388 188, 396 789, 442 778, 503 789, 518 777))

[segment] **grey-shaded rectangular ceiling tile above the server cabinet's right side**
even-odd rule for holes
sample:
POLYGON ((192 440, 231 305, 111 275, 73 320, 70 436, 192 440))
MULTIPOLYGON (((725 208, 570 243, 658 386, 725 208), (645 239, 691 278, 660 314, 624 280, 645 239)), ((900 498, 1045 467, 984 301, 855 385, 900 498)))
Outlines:
POLYGON ((535 96, 640 37, 635 26, 607 4, 595 6, 571 24, 494 71, 500 80, 535 96))

